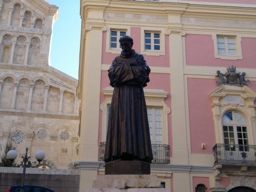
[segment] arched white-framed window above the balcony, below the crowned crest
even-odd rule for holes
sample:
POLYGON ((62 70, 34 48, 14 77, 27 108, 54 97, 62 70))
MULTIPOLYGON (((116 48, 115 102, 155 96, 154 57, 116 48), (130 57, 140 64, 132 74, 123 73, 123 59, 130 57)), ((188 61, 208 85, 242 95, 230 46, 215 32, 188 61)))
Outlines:
POLYGON ((245 117, 236 112, 229 111, 222 117, 223 138, 225 150, 235 151, 239 145, 239 151, 248 151, 248 129, 245 117))

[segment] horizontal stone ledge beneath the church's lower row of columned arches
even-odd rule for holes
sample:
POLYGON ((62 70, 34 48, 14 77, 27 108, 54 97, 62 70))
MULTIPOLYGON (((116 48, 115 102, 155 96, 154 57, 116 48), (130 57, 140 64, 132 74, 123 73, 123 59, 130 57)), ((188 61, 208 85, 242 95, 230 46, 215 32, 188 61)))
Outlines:
MULTIPOLYGON (((0 109, 0 110, 3 110, 3 109, 0 109)), ((0 111, 0 115, 79 120, 78 115, 74 116, 74 115, 69 115, 69 114, 54 115, 54 114, 45 114, 45 113, 36 114, 35 112, 33 112, 33 113, 23 113, 23 112, 18 112, 18 111, 0 111)))

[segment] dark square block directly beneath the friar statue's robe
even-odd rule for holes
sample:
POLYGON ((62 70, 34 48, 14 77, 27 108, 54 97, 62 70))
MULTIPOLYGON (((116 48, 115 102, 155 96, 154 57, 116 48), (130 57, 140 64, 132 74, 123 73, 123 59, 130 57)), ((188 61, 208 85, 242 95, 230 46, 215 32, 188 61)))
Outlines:
POLYGON ((150 164, 141 161, 112 161, 105 164, 105 174, 150 174, 150 164))

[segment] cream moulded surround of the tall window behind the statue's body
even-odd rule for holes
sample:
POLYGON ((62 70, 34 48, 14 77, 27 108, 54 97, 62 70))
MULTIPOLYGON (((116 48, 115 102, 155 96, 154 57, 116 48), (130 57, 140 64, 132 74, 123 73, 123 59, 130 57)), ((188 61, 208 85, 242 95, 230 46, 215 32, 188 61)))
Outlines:
MULTIPOLYGON (((103 94, 106 97, 106 100, 100 106, 100 109, 103 111, 101 142, 105 142, 107 137, 107 113, 108 106, 111 104, 113 90, 113 87, 106 87, 103 90, 103 94)), ((147 107, 162 108, 162 142, 164 145, 169 145, 167 115, 171 112, 171 109, 164 102, 164 100, 167 98, 168 93, 164 90, 144 89, 144 94, 147 107)))

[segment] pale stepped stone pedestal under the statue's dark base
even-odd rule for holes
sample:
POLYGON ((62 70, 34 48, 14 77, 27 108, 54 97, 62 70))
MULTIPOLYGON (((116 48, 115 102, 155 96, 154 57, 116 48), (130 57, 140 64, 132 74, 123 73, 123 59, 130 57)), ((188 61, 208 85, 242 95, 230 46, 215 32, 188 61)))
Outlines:
POLYGON ((156 175, 97 175, 86 192, 167 192, 156 175))

